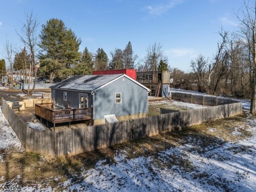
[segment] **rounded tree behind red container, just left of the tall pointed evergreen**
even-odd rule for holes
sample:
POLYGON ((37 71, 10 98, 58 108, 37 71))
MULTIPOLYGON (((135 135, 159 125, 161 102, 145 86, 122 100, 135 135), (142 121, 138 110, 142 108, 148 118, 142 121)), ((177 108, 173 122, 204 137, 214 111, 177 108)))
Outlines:
POLYGON ((110 61, 108 68, 111 70, 114 69, 123 69, 123 51, 121 49, 116 49, 114 52, 110 52, 112 60, 110 61))

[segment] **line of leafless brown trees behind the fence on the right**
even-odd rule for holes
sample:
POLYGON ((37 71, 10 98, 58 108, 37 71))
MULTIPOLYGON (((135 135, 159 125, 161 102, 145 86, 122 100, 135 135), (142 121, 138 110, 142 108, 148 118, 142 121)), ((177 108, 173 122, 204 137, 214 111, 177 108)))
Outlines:
POLYGON ((217 52, 211 59, 198 54, 190 62, 190 72, 171 68, 175 88, 236 98, 250 98, 253 85, 252 54, 237 34, 221 29, 217 52), (238 38, 239 37, 239 38, 238 38))

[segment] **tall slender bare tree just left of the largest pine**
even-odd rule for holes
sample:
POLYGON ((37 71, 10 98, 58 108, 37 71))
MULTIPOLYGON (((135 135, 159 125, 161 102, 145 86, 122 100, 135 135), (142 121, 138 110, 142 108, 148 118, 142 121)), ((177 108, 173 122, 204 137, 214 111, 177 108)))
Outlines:
MULTIPOLYGON (((20 27, 20 33, 16 31, 20 40, 25 44, 25 46, 30 51, 30 65, 31 71, 34 71, 34 84, 30 92, 30 84, 28 84, 28 95, 31 95, 34 92, 36 86, 36 46, 37 46, 37 34, 36 30, 38 27, 38 20, 34 16, 33 12, 25 12, 26 22, 22 23, 20 27), (32 70, 32 68, 34 70, 32 70)), ((32 73, 31 73, 32 74, 32 73)))

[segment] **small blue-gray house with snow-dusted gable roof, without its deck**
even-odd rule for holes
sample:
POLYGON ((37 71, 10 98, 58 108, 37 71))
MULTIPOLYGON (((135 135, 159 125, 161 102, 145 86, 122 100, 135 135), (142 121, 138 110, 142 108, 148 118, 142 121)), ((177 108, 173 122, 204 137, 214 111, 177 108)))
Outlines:
POLYGON ((148 115, 148 88, 126 74, 73 76, 51 86, 60 108, 93 108, 93 124, 148 115))

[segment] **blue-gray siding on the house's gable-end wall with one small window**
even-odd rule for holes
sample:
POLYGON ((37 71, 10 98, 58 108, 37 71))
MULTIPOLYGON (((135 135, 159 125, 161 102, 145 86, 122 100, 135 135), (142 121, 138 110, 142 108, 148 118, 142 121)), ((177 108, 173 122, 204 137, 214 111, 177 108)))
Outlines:
POLYGON ((104 115, 124 116, 148 112, 148 92, 126 77, 120 78, 95 93, 94 119, 104 115), (123 81, 124 78, 124 81, 123 81), (115 93, 122 93, 122 103, 115 103, 115 93))

